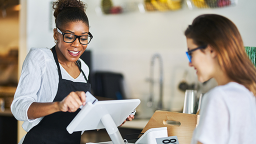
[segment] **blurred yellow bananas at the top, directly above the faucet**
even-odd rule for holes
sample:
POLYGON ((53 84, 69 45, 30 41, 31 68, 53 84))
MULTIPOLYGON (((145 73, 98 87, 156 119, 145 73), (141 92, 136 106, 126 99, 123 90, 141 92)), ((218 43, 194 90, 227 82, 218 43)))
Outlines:
POLYGON ((181 0, 151 0, 150 2, 159 11, 177 10, 181 8, 181 0))

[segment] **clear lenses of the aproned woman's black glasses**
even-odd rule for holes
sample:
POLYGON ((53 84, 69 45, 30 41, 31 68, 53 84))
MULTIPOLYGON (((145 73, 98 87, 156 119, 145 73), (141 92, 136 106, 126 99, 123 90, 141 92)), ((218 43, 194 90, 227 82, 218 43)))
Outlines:
POLYGON ((91 40, 90 36, 87 36, 87 35, 76 36, 76 35, 71 34, 71 33, 65 33, 63 35, 63 40, 65 42, 71 43, 71 42, 73 42, 76 39, 76 37, 79 39, 81 44, 88 44, 90 42, 90 40, 91 40))

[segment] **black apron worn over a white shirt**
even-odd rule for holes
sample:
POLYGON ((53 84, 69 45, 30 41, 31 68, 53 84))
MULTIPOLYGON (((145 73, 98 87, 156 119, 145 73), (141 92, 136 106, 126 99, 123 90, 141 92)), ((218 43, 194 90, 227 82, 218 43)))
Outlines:
MULTIPOLYGON (((76 64, 82 72, 87 83, 84 82, 73 82, 70 80, 62 79, 60 67, 57 59, 55 46, 52 47, 52 53, 58 68, 58 90, 53 101, 61 101, 71 91, 90 91, 90 84, 86 76, 80 67, 80 61, 76 61, 76 64)), ((75 112, 55 112, 46 115, 42 120, 32 127, 25 135, 23 144, 26 143, 77 143, 80 144, 81 131, 73 132, 69 134, 66 131, 66 126, 72 121, 75 115, 80 111, 78 108, 75 112)))

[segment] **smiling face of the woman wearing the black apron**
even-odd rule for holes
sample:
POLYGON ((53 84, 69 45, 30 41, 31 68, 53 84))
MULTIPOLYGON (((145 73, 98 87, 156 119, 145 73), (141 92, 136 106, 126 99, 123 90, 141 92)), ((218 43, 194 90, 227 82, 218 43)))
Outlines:
MULTIPOLYGON (((60 31, 63 33, 72 33, 75 35, 88 35, 89 28, 88 26, 81 22, 70 22, 66 24, 65 26, 58 27, 60 31)), ((79 39, 76 38, 73 42, 67 43, 63 41, 63 35, 57 31, 56 28, 54 28, 54 39, 57 39, 56 44, 56 52, 58 55, 58 60, 61 62, 70 61, 75 62, 78 60, 80 55, 84 52, 84 50, 87 47, 86 45, 83 45, 79 42, 79 39)))

